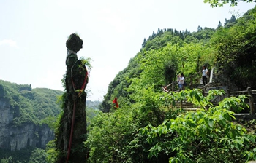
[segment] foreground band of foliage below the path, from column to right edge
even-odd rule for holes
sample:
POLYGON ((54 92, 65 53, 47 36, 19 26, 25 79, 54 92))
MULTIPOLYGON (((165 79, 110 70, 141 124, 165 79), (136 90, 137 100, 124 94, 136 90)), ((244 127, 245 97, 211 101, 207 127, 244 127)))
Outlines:
MULTIPOLYGON (((246 162, 256 159, 255 130, 234 123, 233 111, 246 105, 245 95, 225 98, 218 106, 200 90, 140 92, 132 106, 98 114, 90 125, 86 146, 89 162, 246 162), (176 108, 187 99, 196 112, 176 108), (232 160, 232 161, 230 161, 232 160)), ((255 125, 255 122, 252 122, 255 125)))

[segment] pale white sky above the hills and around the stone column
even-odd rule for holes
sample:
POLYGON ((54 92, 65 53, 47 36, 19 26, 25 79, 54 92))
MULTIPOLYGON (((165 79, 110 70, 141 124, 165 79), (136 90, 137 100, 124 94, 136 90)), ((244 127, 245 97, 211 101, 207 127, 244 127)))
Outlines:
POLYGON ((108 84, 157 29, 197 31, 241 17, 255 3, 212 8, 203 0, 0 0, 0 79, 64 90, 66 41, 78 33, 80 57, 91 58, 87 100, 102 101, 108 84))

